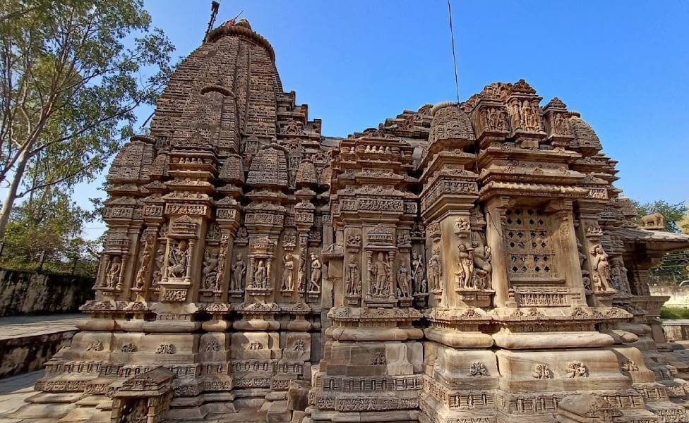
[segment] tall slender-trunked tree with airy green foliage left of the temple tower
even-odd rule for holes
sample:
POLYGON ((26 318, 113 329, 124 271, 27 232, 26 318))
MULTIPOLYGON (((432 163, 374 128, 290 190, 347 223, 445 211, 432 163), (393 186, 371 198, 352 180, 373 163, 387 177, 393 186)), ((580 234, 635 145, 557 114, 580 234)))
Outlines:
POLYGON ((15 200, 104 169, 136 108, 155 104, 173 50, 141 0, 0 2, 0 238, 15 200))

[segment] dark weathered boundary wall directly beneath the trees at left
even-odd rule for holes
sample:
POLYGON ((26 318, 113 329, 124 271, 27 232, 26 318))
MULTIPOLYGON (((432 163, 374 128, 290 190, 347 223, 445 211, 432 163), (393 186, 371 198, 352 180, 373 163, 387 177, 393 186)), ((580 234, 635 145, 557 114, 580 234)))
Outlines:
POLYGON ((0 317, 78 312, 93 299, 93 283, 82 276, 0 269, 0 317))

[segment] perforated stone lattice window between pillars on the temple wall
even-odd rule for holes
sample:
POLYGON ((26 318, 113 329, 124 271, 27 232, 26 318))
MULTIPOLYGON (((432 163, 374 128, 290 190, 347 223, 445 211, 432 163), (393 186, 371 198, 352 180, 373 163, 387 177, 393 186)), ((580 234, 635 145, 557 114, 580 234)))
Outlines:
POLYGON ((506 212, 505 251, 510 280, 557 278, 552 222, 538 209, 515 208, 506 212))

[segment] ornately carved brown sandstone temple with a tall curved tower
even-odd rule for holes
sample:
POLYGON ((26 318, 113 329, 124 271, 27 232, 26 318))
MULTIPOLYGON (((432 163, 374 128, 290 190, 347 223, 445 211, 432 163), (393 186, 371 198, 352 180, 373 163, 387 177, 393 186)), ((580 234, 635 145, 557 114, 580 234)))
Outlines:
MULTIPOLYGON (((16 418, 688 422, 616 161, 527 82, 324 137, 245 20, 109 173, 90 319, 16 418)), ((45 420, 41 420, 42 422, 45 420)))

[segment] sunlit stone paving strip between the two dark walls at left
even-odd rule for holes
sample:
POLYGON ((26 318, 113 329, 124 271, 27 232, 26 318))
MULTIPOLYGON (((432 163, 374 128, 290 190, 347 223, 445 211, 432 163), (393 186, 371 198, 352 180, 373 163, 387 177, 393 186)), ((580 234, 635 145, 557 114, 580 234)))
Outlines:
MULTIPOLYGON (((0 340, 76 330, 76 322, 88 314, 0 317, 0 340)), ((3 381, 0 381, 2 384, 3 381)))

